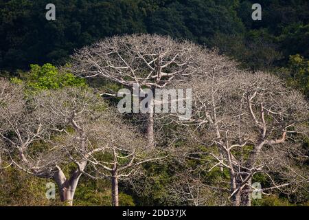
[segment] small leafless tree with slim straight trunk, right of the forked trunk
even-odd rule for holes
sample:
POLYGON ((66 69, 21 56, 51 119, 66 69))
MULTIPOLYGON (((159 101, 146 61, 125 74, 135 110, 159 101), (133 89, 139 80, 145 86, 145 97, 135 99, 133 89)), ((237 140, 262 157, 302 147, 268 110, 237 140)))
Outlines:
POLYGON ((85 157, 89 168, 83 173, 111 179, 113 206, 119 206, 119 180, 134 178, 142 164, 166 157, 159 149, 150 149, 141 133, 124 123, 116 111, 104 117, 104 122, 89 124, 88 130, 91 151, 85 157))

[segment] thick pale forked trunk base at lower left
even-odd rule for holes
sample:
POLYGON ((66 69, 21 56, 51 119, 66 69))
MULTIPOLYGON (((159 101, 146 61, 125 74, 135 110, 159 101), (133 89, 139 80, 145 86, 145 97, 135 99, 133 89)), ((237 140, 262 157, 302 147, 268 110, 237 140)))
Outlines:
MULTIPOLYGON (((84 170, 86 164, 87 162, 82 162, 80 168, 84 170)), ((56 173, 54 180, 56 181, 59 188, 60 200, 66 203, 67 206, 73 206, 74 194, 81 175, 82 173, 80 173, 80 170, 76 168, 76 170, 74 170, 71 174, 70 178, 67 179, 62 170, 58 168, 58 172, 56 173)))

